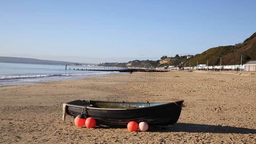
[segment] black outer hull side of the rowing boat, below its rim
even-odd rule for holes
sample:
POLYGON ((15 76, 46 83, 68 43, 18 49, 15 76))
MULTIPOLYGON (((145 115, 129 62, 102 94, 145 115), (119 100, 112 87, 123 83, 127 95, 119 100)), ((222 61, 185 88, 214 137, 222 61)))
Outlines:
MULTIPOLYGON (((84 116, 92 117, 96 120, 97 124, 103 125, 125 125, 131 121, 135 121, 138 123, 147 122, 148 125, 154 126, 171 126, 174 125, 180 117, 182 103, 183 100, 180 100, 142 108, 84 108, 81 104, 67 104, 66 113, 70 116, 76 117, 81 114, 84 108, 84 116)), ((126 104, 130 107, 129 103, 126 104)))

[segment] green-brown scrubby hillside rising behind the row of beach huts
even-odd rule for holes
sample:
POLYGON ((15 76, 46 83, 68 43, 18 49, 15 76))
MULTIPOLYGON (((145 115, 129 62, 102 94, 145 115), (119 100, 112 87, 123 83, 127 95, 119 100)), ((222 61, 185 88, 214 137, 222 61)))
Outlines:
POLYGON ((208 65, 220 65, 220 57, 222 58, 221 64, 223 65, 234 65, 241 63, 241 54, 243 55, 242 63, 246 63, 251 60, 256 60, 256 32, 244 40, 242 44, 219 46, 208 49, 194 58, 186 61, 186 65, 189 62, 192 66, 198 64, 208 65))

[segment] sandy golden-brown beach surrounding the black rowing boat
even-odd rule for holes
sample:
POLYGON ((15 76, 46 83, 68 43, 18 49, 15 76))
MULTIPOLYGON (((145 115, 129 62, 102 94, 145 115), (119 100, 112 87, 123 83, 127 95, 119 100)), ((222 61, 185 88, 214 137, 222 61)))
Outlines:
MULTIPOLYGON (((256 74, 138 73, 42 85, 0 87, 2 143, 255 143, 256 74), (78 128, 62 121, 62 103, 77 100, 185 100, 169 129, 78 128)), ((152 115, 154 115, 152 113, 152 115)))

